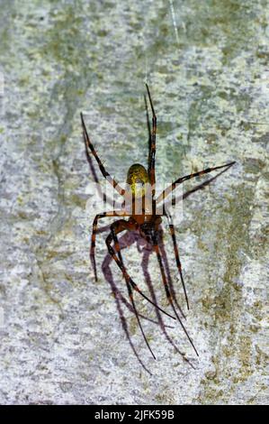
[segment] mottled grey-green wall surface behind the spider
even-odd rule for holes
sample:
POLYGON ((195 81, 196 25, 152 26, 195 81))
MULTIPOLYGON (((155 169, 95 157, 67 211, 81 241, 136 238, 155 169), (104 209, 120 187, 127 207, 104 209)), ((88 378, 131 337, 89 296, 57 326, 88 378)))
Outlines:
MULTIPOLYGON (((267 403, 268 2, 0 3, 0 401, 267 403), (159 326, 143 321, 154 361, 121 305, 151 375, 122 329, 109 272, 122 294, 126 289, 107 260, 104 234, 98 283, 89 268, 97 210, 85 211, 93 176, 79 121, 84 110, 97 151, 124 180, 131 163, 147 159, 145 79, 158 118, 159 181, 237 161, 184 199, 177 226, 191 301, 186 326, 200 358, 179 326, 166 329, 196 369, 159 326)), ((142 255, 135 244, 124 251, 130 274, 146 290, 142 255)), ((153 255, 148 272, 168 310, 153 255)))

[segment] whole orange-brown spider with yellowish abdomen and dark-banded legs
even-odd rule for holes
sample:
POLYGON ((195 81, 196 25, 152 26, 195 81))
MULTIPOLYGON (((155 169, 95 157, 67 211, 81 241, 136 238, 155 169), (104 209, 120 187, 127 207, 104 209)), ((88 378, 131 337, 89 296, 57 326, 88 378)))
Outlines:
POLYGON ((120 268, 122 276, 126 282, 126 287, 128 290, 128 295, 130 298, 130 302, 137 318, 139 328, 141 334, 148 346, 148 350, 154 359, 156 356, 154 355, 151 347, 149 346, 147 336, 144 333, 143 327, 140 322, 139 313, 136 308, 133 292, 137 291, 140 296, 144 299, 148 300, 156 309, 165 314, 166 316, 177 319, 179 324, 184 330, 185 335, 187 336, 189 342, 193 346, 193 350, 197 356, 199 356, 196 347, 193 344, 192 338, 189 336, 182 319, 175 309, 174 298, 171 294, 171 289, 169 288, 169 284, 166 277, 165 267, 163 263, 163 259, 160 254, 159 243, 158 243, 158 234, 160 231, 160 224, 162 222, 162 217, 166 217, 168 221, 168 226, 170 230, 170 235, 172 238, 172 243, 174 246, 175 252, 175 263, 177 266, 177 270, 180 275, 180 280, 184 290, 184 298, 186 301, 187 309, 189 309, 189 300, 187 297, 187 292, 184 284, 184 277, 182 272, 182 265, 178 253, 178 247, 175 238, 175 226, 173 223, 173 219, 166 208, 163 208, 161 213, 159 212, 159 207, 157 205, 164 201, 164 199, 168 196, 168 194, 172 193, 178 184, 182 184, 185 180, 191 180, 195 177, 201 177, 204 174, 207 174, 211 171, 220 170, 222 168, 228 169, 232 166, 235 161, 231 161, 226 163, 225 165, 215 166, 213 168, 207 168, 202 171, 194 172, 189 175, 185 175, 184 177, 180 177, 175 180, 167 189, 163 190, 163 192, 156 197, 156 175, 155 175, 155 156, 156 156, 156 134, 157 134, 157 116, 155 113, 155 109, 153 106, 152 98, 150 96, 148 84, 146 83, 146 88, 148 92, 148 100, 150 104, 150 109, 152 113, 152 125, 150 125, 148 118, 148 102, 147 97, 144 96, 145 106, 147 111, 147 121, 148 121, 148 170, 141 165, 140 163, 134 163, 130 166, 130 169, 127 173, 127 189, 121 188, 121 185, 105 170, 102 161, 100 160, 97 152, 94 149, 94 145, 90 140, 90 137, 87 133, 84 116, 81 113, 81 123, 83 128, 83 137, 85 142, 85 151, 87 156, 90 155, 90 152, 94 155, 95 160, 99 166, 100 171, 103 174, 105 180, 107 180, 123 198, 123 203, 121 209, 112 210, 110 212, 103 212, 94 217, 93 223, 93 233, 91 238, 91 248, 90 248, 90 257, 91 262, 94 268, 94 277, 95 281, 97 281, 97 271, 96 271, 96 263, 94 257, 94 249, 95 249, 95 237, 97 232, 98 220, 103 217, 118 217, 119 219, 115 220, 110 226, 110 234, 106 237, 105 243, 107 245, 108 252, 112 256, 112 259, 120 268), (139 203, 140 208, 137 210, 137 204, 139 203), (128 220, 125 220, 124 217, 129 217, 128 220), (170 315, 166 310, 160 308, 155 302, 148 298, 148 296, 139 289, 139 285, 133 281, 130 277, 130 274, 127 272, 126 267, 123 263, 121 249, 119 244, 118 235, 123 231, 139 231, 139 235, 144 238, 148 244, 151 244, 153 251, 157 254, 157 262, 160 268, 162 282, 166 291, 166 298, 175 314, 170 315), (112 245, 113 244, 113 245, 112 245))

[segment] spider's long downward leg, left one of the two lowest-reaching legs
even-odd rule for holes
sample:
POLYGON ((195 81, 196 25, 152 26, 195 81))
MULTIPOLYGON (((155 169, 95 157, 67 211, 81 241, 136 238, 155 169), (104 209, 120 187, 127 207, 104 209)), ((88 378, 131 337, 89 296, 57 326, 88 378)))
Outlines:
MULTIPOLYGON (((120 250, 120 244, 119 244, 119 240, 118 240, 117 234, 121 233, 121 231, 124 231, 126 229, 128 229, 127 223, 123 219, 121 219, 121 220, 119 220, 117 222, 114 222, 112 224, 112 226, 111 226, 111 235, 112 235, 112 240, 114 242, 114 248, 115 248, 115 251, 118 253, 119 261, 121 262, 121 267, 124 270, 125 270, 125 267, 124 267, 123 260, 122 260, 122 255, 121 255, 121 250, 120 250)), ((108 240, 108 237, 107 237, 107 240, 108 240)), ((111 245, 110 245, 110 247, 112 248, 111 245)), ((130 302, 131 302, 132 308, 134 310, 135 316, 137 318, 137 321, 139 323, 139 328, 140 328, 141 334, 144 337, 144 340, 146 342, 146 345, 148 346, 149 352, 154 357, 154 359, 156 359, 156 356, 154 355, 151 347, 149 346, 148 339, 147 339, 147 337, 146 337, 146 335, 144 333, 144 330, 143 330, 143 327, 142 327, 142 324, 141 324, 141 321, 140 321, 140 318, 139 318, 138 309, 136 308, 136 305, 135 305, 135 302, 134 302, 134 299, 133 299, 133 295, 132 295, 133 288, 130 285, 130 279, 127 278, 127 275, 124 275, 124 277, 125 277, 125 281, 126 281, 126 285, 127 285, 127 289, 128 289, 128 294, 129 294, 130 302)))

